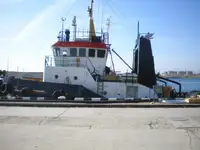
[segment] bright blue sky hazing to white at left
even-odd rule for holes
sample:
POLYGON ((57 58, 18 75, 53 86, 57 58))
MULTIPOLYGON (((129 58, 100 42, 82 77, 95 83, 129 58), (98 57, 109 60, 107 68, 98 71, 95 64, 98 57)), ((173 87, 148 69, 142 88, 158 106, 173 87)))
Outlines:
MULTIPOLYGON (((72 29, 77 17, 79 29, 88 28, 90 0, 0 0, 0 69, 43 71, 44 56, 52 55, 51 45, 61 30, 72 29)), ((110 43, 128 64, 140 32, 155 33, 152 50, 156 71, 200 72, 199 0, 94 0, 96 30, 106 29, 111 17, 110 43)), ((127 66, 114 56, 117 71, 127 66)), ((111 63, 108 61, 108 66, 111 63)))

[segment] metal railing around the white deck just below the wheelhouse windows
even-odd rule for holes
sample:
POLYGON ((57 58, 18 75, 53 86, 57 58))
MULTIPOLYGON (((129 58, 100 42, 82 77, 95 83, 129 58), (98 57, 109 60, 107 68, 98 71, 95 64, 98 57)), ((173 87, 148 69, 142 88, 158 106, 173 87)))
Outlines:
POLYGON ((87 67, 87 60, 78 60, 76 58, 72 59, 68 56, 45 56, 45 67, 67 67, 67 66, 76 66, 76 67, 87 67))

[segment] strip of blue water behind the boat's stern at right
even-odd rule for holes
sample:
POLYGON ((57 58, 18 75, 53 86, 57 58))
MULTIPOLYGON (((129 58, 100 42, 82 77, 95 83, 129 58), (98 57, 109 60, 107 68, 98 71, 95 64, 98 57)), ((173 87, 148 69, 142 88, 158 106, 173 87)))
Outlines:
MULTIPOLYGON (((200 91, 200 78, 171 78, 171 80, 177 81, 182 85, 182 92, 189 92, 192 90, 200 91)), ((173 83, 168 83, 168 86, 172 86, 178 92, 179 86, 173 83)))

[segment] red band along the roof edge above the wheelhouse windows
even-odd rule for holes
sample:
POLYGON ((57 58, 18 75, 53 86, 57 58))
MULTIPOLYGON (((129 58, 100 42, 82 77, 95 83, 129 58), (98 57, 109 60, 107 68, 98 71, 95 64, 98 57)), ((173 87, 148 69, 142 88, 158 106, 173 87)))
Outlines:
POLYGON ((91 42, 56 42, 54 47, 85 47, 85 48, 102 48, 106 49, 104 43, 91 43, 91 42))

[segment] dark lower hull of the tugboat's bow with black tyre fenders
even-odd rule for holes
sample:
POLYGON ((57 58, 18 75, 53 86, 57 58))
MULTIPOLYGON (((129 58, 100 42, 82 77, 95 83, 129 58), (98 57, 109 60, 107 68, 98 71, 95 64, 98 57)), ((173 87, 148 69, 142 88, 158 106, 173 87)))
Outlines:
POLYGON ((82 85, 71 85, 50 82, 28 81, 16 78, 9 78, 1 86, 2 94, 12 94, 20 96, 44 96, 44 97, 101 97, 82 85), (55 94, 56 93, 56 94, 55 94))

